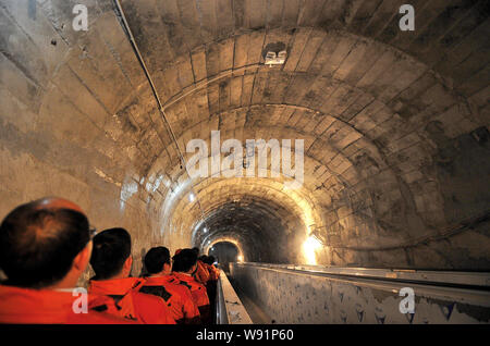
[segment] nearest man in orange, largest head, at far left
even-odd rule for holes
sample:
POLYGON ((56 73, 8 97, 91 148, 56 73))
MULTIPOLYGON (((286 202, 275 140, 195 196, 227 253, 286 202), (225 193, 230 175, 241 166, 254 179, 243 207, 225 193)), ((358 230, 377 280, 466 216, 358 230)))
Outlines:
POLYGON ((88 309, 100 297, 74 295, 93 248, 79 206, 45 197, 12 210, 0 225, 0 323, 124 324, 88 309))

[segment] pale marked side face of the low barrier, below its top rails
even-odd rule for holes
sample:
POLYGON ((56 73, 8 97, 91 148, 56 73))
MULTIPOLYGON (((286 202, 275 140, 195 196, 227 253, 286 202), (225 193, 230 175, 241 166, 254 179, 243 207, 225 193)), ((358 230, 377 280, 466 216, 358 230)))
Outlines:
MULTIPOLYGON (((231 263, 233 284, 259 305, 278 323, 489 323, 490 307, 433 296, 428 289, 415 292, 415 313, 400 312, 399 289, 413 284, 363 283, 231 263)), ((437 292, 437 291, 434 291, 437 292)), ((487 295, 488 299, 488 295, 487 295)))

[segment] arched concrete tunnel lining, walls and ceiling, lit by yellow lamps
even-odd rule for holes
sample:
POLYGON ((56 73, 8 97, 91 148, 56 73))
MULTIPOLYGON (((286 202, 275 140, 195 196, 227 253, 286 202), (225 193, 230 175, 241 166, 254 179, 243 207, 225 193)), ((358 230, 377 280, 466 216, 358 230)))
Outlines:
POLYGON ((489 272, 489 2, 413 0, 415 29, 403 3, 0 0, 0 215, 76 201, 134 275, 224 243, 489 272))

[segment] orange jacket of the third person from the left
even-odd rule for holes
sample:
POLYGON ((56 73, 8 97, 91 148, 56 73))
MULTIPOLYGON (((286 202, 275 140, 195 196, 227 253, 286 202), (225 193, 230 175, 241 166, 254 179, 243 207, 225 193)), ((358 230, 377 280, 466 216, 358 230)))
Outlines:
POLYGON ((179 324, 200 323, 199 310, 193 300, 191 291, 183 285, 171 283, 171 275, 149 276, 139 288, 140 293, 161 297, 179 324))

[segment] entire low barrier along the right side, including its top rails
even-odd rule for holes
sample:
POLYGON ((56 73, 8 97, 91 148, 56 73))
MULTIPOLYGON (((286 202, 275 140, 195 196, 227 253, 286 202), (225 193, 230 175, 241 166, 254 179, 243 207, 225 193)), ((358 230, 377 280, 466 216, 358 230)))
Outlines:
POLYGON ((490 322, 488 272, 241 262, 230 276, 278 323, 490 322))

